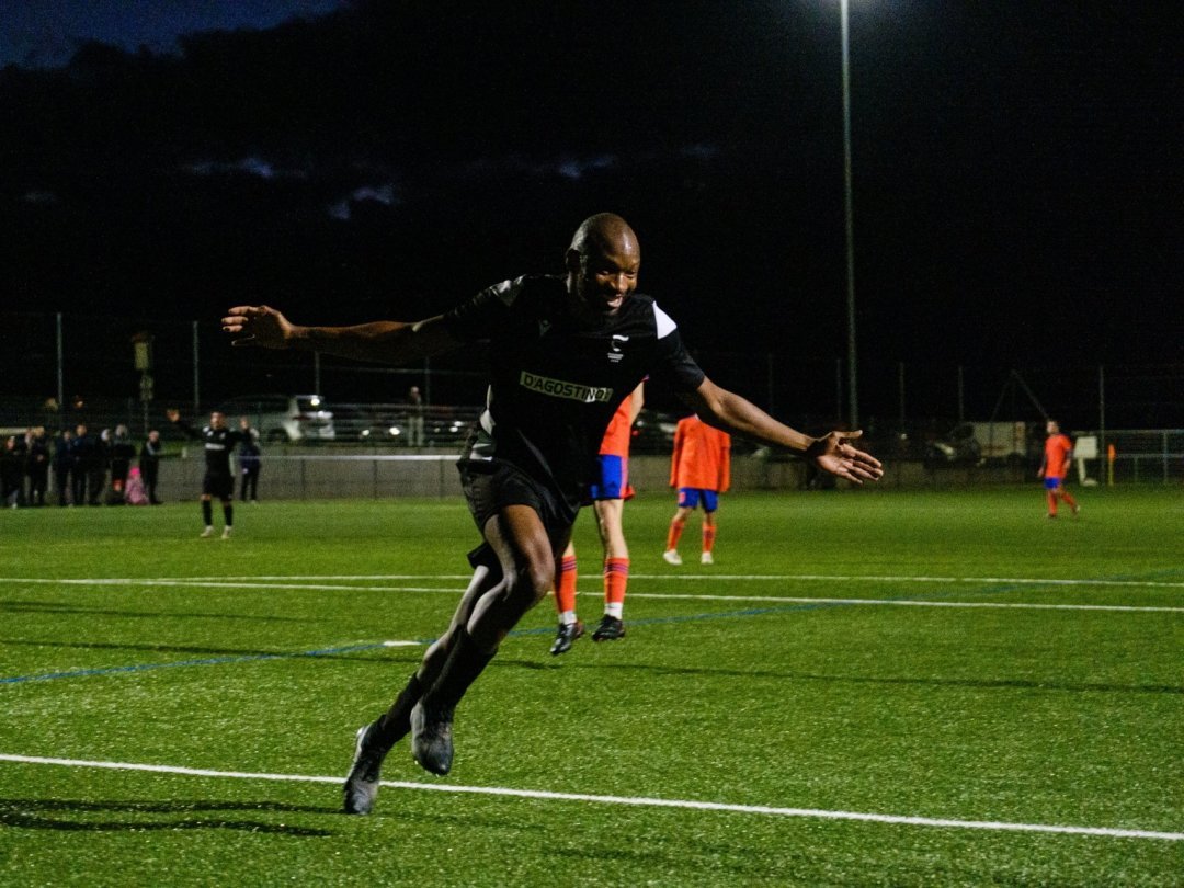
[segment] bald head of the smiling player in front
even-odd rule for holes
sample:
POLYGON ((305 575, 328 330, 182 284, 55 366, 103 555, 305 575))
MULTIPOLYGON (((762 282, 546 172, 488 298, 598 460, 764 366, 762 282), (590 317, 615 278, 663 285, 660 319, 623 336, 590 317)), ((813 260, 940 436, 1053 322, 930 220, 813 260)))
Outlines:
POLYGON ((619 215, 586 219, 567 250, 567 285, 580 308, 594 316, 617 314, 637 288, 642 249, 619 215))

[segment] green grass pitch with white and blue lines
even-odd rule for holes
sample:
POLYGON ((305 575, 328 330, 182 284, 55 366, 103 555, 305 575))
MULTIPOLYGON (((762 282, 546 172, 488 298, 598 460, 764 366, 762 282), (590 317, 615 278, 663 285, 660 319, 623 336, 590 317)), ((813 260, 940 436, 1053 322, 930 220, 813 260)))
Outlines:
POLYGON ((551 657, 545 601, 369 817, 459 500, 7 510, 0 884, 1182 884, 1184 493, 1075 493, 726 495, 678 568, 639 496, 628 636, 551 657))

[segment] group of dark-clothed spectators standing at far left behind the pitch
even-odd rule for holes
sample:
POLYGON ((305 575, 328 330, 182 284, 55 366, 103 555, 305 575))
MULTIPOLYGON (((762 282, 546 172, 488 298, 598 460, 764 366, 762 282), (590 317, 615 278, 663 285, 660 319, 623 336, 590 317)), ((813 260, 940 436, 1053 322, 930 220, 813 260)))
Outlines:
POLYGON ((5 439, 0 503, 8 508, 45 506, 52 477, 58 506, 136 501, 156 506, 161 502, 156 481, 162 452, 157 431, 149 432, 137 451, 126 425, 95 435, 79 423, 73 431, 64 429, 53 438, 44 426, 36 426, 5 439))

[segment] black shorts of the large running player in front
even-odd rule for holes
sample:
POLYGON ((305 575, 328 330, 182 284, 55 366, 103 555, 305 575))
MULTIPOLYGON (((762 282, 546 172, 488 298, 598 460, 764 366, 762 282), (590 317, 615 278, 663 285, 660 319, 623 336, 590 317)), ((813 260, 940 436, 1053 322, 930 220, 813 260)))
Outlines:
MULTIPOLYGON (((511 463, 462 459, 456 465, 461 470, 464 498, 478 530, 484 533, 489 519, 508 506, 529 506, 542 521, 551 548, 556 555, 564 551, 578 509, 573 511, 555 491, 511 463)), ((469 564, 474 567, 481 564, 497 566, 497 558, 488 543, 482 543, 469 553, 469 564)))

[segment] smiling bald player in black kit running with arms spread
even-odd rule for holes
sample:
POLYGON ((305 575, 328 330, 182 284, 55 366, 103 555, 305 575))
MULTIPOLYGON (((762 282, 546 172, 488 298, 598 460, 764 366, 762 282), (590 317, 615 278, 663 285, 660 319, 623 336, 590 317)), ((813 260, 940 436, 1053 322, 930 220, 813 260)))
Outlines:
POLYGON ((347 813, 368 813, 391 747, 411 733, 420 767, 452 766, 453 709, 519 619, 551 590, 600 438, 617 405, 646 375, 669 385, 703 422, 785 448, 855 483, 882 475, 857 450, 860 432, 811 438, 712 382, 652 298, 635 294, 637 236, 600 213, 577 230, 566 275, 530 276, 478 292, 413 323, 298 327, 266 305, 223 318, 234 345, 300 348, 403 365, 490 342, 487 407, 462 456, 462 487, 483 545, 448 631, 390 710, 358 732, 345 784, 347 813))

